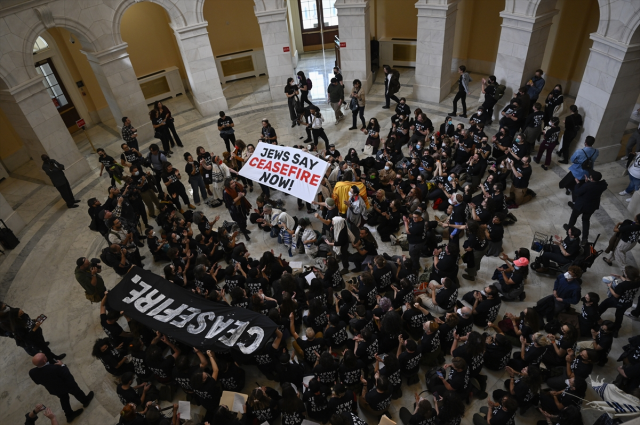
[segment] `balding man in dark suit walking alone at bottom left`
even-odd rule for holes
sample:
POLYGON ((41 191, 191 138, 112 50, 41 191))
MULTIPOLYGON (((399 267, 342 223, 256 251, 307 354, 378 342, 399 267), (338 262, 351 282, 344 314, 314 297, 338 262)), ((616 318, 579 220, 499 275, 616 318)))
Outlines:
POLYGON ((93 400, 93 391, 85 394, 76 383, 73 375, 71 375, 69 368, 62 364, 61 361, 58 360, 51 364, 47 362, 44 354, 40 353, 33 356, 31 362, 35 368, 29 371, 29 377, 37 385, 45 387, 49 394, 60 399, 67 422, 73 421, 84 410, 72 410, 69 403, 69 395, 74 396, 84 407, 89 406, 89 403, 93 400))

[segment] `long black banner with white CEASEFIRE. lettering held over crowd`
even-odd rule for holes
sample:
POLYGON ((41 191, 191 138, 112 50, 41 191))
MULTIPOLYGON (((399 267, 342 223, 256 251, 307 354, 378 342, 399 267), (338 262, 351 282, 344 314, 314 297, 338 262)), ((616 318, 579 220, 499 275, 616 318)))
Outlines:
POLYGON ((199 350, 262 348, 277 328, 268 317, 205 300, 140 267, 133 267, 107 297, 110 308, 199 350))

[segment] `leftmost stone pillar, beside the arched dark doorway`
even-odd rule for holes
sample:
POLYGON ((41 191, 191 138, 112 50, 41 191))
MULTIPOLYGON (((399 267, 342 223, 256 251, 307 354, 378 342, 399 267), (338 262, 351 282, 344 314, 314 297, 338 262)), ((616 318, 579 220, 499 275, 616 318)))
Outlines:
POLYGON ((0 91, 0 107, 29 151, 42 181, 51 184, 51 179, 40 168, 42 154, 64 164, 65 175, 72 186, 90 172, 87 160, 78 151, 51 101, 42 76, 0 91))

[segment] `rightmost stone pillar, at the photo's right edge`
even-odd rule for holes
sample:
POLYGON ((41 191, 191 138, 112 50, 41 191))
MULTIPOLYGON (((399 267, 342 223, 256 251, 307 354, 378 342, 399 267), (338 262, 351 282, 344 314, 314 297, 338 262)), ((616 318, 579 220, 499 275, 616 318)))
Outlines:
POLYGON ((599 163, 614 161, 620 151, 629 115, 640 94, 640 44, 628 45, 591 34, 593 46, 576 96, 576 106, 584 111, 585 137, 596 138, 599 163))

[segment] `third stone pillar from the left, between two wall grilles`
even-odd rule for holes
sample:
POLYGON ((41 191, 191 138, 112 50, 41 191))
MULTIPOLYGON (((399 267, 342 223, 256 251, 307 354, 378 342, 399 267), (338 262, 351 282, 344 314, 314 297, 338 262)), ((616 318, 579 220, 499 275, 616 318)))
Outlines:
POLYGON ((228 109, 222 93, 216 59, 211 50, 207 22, 174 29, 178 48, 187 72, 191 95, 196 109, 203 117, 217 115, 228 109))

